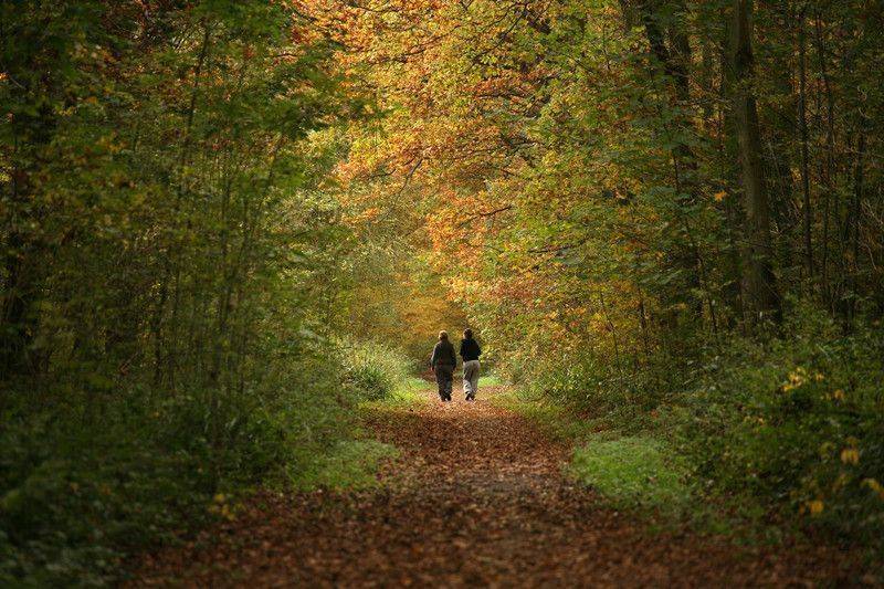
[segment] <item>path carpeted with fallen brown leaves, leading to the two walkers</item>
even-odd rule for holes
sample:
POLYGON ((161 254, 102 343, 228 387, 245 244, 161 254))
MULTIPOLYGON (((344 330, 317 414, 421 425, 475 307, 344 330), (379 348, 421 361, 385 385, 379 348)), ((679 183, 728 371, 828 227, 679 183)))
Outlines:
POLYGON ((400 449, 377 488, 260 494, 146 557, 131 586, 841 586, 855 574, 820 547, 652 532, 571 482, 570 449, 490 400, 501 392, 371 406, 366 432, 400 449))

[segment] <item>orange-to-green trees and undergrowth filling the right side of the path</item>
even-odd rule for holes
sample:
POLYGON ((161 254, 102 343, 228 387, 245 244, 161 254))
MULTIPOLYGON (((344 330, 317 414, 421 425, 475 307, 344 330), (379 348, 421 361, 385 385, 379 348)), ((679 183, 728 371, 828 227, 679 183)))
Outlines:
POLYGON ((377 113, 348 130, 345 200, 421 228, 512 378, 669 439, 711 494, 874 535, 880 11, 304 10, 377 113), (824 378, 780 388, 799 369, 824 378))

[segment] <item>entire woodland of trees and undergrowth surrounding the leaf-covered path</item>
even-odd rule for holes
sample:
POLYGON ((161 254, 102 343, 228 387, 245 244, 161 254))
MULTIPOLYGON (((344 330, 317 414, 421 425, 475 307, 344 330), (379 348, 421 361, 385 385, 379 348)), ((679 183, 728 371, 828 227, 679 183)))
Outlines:
POLYGON ((387 485, 466 327, 430 439, 884 582, 882 72, 880 0, 2 2, 0 585, 387 485))

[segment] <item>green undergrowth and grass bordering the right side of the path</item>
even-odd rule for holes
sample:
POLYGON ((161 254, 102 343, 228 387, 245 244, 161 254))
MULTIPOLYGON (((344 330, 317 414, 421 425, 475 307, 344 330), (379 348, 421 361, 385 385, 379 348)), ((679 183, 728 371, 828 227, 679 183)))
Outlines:
POLYGON ((572 472, 615 502, 705 498, 880 554, 882 358, 877 326, 844 335, 800 308, 781 336, 703 343, 630 378, 592 357, 549 366, 523 388, 535 400, 523 411, 577 440, 572 472))

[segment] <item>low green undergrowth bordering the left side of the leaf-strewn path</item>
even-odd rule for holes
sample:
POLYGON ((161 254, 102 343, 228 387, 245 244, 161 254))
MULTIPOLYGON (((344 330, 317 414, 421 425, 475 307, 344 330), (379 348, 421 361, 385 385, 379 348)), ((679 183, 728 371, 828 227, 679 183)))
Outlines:
POLYGON ((105 585, 135 551, 233 517, 259 485, 371 485, 396 450, 359 440, 354 408, 392 396, 407 365, 364 349, 330 355, 346 365, 303 354, 269 370, 222 401, 214 438, 209 390, 84 391, 92 406, 70 390, 18 397, 0 432, 0 585, 105 585))

